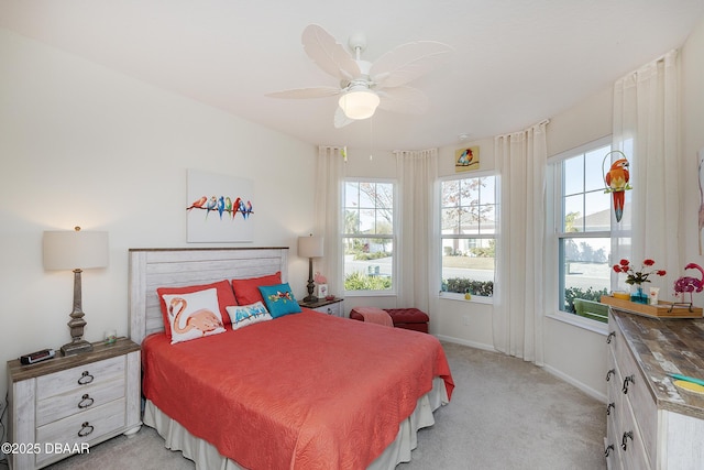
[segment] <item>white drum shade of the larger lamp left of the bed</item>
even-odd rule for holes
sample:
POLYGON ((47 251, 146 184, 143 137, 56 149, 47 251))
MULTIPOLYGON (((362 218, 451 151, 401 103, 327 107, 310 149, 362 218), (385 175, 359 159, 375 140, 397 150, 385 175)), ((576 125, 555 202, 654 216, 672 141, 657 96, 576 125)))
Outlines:
POLYGON ((88 270, 108 265, 108 232, 46 231, 43 239, 45 270, 88 270))

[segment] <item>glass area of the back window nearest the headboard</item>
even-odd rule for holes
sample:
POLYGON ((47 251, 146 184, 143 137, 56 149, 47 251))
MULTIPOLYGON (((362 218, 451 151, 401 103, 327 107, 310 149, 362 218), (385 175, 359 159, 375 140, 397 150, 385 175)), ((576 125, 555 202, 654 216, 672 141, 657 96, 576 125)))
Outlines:
POLYGON ((345 292, 391 292, 394 287, 394 192, 388 182, 344 183, 345 292))

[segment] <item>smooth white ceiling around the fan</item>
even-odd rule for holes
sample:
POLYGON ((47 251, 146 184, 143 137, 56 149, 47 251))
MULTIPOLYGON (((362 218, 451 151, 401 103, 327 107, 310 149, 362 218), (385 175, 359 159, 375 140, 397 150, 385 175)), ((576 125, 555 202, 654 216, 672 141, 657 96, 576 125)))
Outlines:
POLYGON ((420 150, 514 132, 569 109, 682 45, 704 0, 0 0, 0 26, 312 144, 420 150), (271 91, 337 86, 305 54, 320 24, 370 62, 407 42, 451 45, 410 85, 418 116, 377 111, 334 129, 337 99, 271 91))

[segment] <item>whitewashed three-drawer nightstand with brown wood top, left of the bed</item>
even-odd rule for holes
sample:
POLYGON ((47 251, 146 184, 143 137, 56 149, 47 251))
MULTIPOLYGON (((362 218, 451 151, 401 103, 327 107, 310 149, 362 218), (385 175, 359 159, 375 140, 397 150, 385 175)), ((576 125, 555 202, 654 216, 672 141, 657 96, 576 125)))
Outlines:
POLYGON ((119 338, 81 354, 8 362, 12 470, 40 469, 119 434, 141 417, 140 346, 119 338))

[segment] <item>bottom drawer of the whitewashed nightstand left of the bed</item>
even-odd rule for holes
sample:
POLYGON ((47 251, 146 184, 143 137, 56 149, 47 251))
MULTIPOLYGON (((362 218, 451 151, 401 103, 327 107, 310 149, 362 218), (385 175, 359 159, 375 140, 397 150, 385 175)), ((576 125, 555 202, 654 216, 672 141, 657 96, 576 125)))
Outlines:
POLYGON ((68 447, 79 442, 92 444, 99 441, 103 436, 116 434, 124 426, 124 398, 40 426, 36 428, 36 441, 41 445, 42 453, 36 456, 36 466, 41 467, 66 457, 66 455, 43 453, 46 448, 45 444, 58 442, 68 447))

